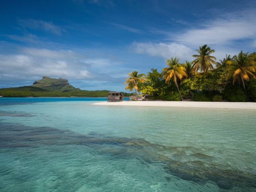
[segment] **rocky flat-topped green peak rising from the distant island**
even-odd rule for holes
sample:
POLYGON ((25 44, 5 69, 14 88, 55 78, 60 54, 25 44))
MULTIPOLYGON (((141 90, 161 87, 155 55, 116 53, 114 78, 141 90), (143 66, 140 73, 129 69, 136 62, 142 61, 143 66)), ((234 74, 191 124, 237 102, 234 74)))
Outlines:
POLYGON ((61 91, 61 92, 71 92, 71 91, 79 91, 80 89, 69 85, 67 79, 63 78, 51 78, 44 76, 41 80, 35 81, 32 87, 39 87, 43 89, 47 89, 50 91, 61 91))

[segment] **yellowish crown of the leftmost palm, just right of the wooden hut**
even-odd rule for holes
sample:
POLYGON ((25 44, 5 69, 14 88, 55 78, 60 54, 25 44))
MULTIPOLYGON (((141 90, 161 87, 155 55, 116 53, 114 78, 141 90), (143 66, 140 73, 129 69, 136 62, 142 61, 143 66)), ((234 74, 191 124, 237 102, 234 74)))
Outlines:
POLYGON ((132 71, 131 73, 128 73, 128 78, 126 78, 126 81, 124 82, 124 84, 127 84, 125 87, 125 90, 132 91, 133 89, 135 90, 135 93, 137 95, 137 92, 139 93, 139 87, 138 87, 138 83, 144 83, 146 81, 145 79, 145 74, 141 73, 138 74, 138 71, 132 71))

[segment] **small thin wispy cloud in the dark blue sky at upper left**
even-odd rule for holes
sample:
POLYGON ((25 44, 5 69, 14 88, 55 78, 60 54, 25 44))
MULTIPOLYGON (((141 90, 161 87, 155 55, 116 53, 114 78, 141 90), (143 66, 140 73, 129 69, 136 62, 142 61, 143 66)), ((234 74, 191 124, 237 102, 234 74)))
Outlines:
POLYGON ((65 30, 62 27, 54 25, 52 21, 46 22, 46 21, 34 20, 34 19, 29 19, 29 20, 18 19, 18 24, 23 28, 43 30, 46 32, 54 33, 56 35, 61 35, 63 32, 65 32, 65 30))

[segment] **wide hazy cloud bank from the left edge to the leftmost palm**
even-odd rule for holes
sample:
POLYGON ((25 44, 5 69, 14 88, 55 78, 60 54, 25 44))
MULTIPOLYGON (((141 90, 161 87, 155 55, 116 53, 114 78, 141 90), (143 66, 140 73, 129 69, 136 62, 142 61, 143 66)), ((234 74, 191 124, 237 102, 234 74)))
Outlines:
POLYGON ((67 78, 70 84, 82 89, 102 89, 99 88, 102 85, 103 89, 111 85, 118 85, 119 89, 123 87, 122 83, 131 69, 109 58, 97 58, 95 55, 96 58, 87 58, 85 52, 21 47, 18 53, 0 55, 0 86, 31 85, 43 76, 50 76, 67 78), (98 81, 101 83, 94 86, 88 83, 98 81))

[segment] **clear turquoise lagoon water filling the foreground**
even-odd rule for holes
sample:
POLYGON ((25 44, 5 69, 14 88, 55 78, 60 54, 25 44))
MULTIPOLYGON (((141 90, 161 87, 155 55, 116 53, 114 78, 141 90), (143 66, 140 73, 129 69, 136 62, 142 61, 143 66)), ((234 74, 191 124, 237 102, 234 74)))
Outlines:
POLYGON ((0 191, 256 191, 256 110, 0 98, 0 191))

